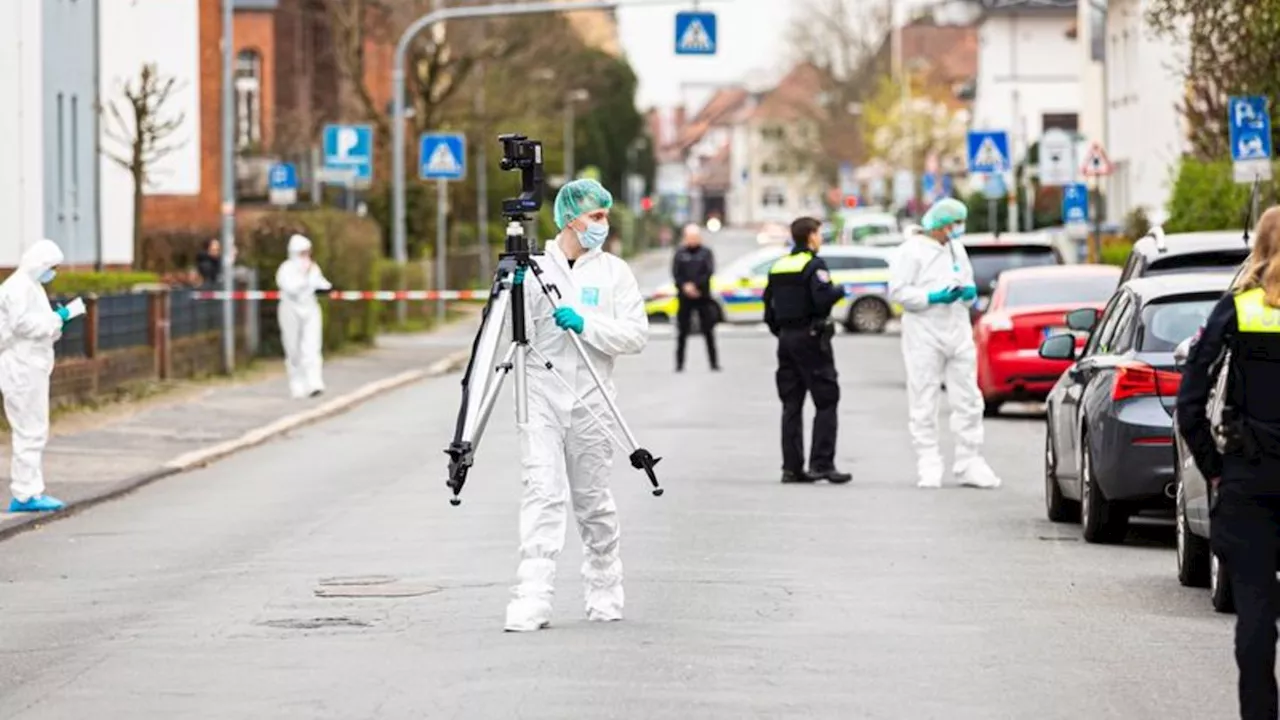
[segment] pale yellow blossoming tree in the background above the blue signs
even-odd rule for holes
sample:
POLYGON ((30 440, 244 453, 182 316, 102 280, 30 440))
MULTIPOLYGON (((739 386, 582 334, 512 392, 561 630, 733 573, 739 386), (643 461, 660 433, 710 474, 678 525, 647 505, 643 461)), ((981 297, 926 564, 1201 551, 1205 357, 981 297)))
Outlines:
POLYGON ((902 86, 882 76, 874 95, 863 105, 863 132, 872 158, 919 177, 931 156, 943 164, 964 158, 969 113, 954 109, 948 91, 913 78, 906 102, 902 86))

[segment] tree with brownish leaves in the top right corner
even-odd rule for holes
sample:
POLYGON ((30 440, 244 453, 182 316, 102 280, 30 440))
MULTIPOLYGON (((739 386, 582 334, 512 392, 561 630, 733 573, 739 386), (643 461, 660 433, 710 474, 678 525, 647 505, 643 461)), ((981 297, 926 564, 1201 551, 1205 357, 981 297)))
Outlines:
POLYGON ((1172 72, 1184 79, 1192 155, 1228 158, 1228 96, 1280 97, 1280 0, 1153 0, 1147 22, 1183 53, 1172 72))

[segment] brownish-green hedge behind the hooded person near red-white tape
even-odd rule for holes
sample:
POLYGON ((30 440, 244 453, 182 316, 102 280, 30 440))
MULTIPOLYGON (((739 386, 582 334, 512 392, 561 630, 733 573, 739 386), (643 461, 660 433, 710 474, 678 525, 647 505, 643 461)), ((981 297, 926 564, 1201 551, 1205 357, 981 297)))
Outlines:
MULTIPOLYGON (((366 218, 333 209, 280 211, 264 215, 241 233, 237 264, 257 269, 264 290, 276 290, 275 272, 288 255, 289 236, 311 238, 311 256, 339 290, 379 290, 378 264, 383 259, 378 225, 366 218)), ((338 350, 347 343, 369 345, 378 331, 378 301, 321 302, 324 343, 338 350)), ((264 345, 278 350, 275 307, 264 305, 264 345)))

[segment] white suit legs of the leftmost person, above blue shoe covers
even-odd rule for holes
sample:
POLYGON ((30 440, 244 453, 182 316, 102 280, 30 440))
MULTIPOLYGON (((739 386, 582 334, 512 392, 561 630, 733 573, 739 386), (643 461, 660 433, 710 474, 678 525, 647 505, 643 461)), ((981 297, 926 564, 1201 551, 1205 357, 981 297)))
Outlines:
POLYGON ((9 489, 19 502, 45 493, 44 457, 49 443, 49 372, 0 354, 0 393, 13 437, 9 489))

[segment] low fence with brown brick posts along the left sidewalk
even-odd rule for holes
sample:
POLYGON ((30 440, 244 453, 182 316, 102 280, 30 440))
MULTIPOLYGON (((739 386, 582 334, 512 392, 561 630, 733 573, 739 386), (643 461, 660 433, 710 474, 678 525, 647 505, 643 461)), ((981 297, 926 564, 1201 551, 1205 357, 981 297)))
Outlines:
MULTIPOLYGON (((207 375, 221 370, 221 304, 189 290, 86 296, 83 318, 54 345, 51 401, 83 402, 140 382, 207 375)), ((247 322, 257 304, 238 302, 237 352, 247 360, 256 338, 247 322)))

